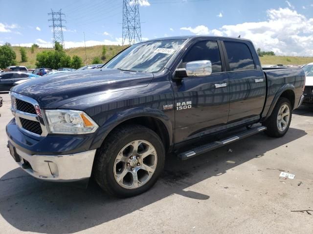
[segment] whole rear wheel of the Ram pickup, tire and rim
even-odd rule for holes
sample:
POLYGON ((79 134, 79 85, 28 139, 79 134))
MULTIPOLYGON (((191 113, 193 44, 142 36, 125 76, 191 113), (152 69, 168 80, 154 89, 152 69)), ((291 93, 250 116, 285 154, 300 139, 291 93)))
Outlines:
POLYGON ((283 137, 291 123, 291 103, 287 98, 279 98, 268 119, 263 123, 267 127, 265 133, 270 137, 283 137))

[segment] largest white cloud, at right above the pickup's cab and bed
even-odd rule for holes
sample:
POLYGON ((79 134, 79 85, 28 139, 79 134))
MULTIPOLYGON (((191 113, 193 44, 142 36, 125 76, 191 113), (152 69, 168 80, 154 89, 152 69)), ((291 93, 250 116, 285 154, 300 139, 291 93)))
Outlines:
POLYGON ((278 55, 313 56, 313 18, 290 8, 269 9, 267 20, 224 25, 209 30, 204 25, 181 28, 194 34, 238 37, 252 40, 255 47, 278 55))

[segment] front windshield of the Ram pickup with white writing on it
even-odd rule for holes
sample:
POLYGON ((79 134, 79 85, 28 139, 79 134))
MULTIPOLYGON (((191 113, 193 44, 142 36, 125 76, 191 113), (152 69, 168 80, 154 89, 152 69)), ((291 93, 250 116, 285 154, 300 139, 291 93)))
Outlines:
POLYGON ((178 39, 134 44, 115 56, 104 68, 156 73, 164 68, 183 42, 183 39, 178 39))

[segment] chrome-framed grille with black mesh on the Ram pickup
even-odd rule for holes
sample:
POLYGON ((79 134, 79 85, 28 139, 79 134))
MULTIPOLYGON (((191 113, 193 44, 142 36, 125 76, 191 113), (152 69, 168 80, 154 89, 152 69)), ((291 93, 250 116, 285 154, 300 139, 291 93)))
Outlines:
POLYGON ((16 124, 25 134, 36 137, 47 135, 45 121, 36 100, 14 92, 11 95, 11 111, 15 117, 16 124), (37 112, 38 111, 38 115, 37 112))

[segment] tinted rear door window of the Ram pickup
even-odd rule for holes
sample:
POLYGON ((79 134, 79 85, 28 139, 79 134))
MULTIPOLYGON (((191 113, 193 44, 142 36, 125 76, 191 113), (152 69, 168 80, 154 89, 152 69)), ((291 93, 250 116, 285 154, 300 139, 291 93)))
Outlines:
POLYGON ((224 41, 230 71, 242 71, 254 69, 254 61, 251 52, 245 43, 224 41))

